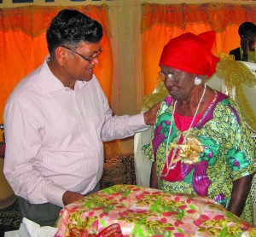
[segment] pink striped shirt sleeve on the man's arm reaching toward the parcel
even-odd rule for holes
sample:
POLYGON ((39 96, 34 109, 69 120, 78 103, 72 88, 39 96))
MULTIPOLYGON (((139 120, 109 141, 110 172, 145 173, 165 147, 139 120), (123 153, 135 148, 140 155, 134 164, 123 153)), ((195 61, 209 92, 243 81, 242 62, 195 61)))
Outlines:
POLYGON ((42 143, 39 120, 35 107, 9 99, 4 112, 7 145, 3 171, 16 195, 32 204, 50 202, 63 206, 62 195, 67 190, 42 176, 35 165, 42 143))

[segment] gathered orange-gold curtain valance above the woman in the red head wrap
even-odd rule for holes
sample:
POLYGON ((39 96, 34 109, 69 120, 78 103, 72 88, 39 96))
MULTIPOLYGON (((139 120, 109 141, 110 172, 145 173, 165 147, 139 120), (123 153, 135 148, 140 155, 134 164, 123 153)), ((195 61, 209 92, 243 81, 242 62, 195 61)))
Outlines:
POLYGON ((189 24, 207 23, 212 30, 224 32, 227 26, 242 21, 256 22, 256 5, 230 3, 155 4, 143 3, 141 31, 152 26, 174 26, 185 29, 189 24))

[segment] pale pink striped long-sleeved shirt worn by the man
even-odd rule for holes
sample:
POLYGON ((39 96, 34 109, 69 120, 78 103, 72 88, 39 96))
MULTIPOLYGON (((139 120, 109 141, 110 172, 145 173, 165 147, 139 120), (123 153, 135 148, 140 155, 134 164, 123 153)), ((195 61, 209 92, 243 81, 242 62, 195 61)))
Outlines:
POLYGON ((95 77, 64 87, 47 58, 9 96, 4 127, 4 174, 15 194, 32 204, 63 206, 67 191, 87 194, 100 181, 102 141, 132 136, 143 114, 112 116, 95 77))

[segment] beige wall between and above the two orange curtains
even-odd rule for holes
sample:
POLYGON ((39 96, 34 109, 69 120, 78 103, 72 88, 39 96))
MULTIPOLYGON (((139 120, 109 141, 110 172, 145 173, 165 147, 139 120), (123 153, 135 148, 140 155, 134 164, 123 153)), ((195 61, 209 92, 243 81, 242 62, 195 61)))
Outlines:
MULTIPOLYGON (((37 5, 102 4, 109 7, 113 46, 113 96, 115 114, 139 113, 143 101, 140 19, 142 4, 212 3, 205 0, 0 0, 0 8, 37 5), (26 3, 25 3, 26 2, 26 3)), ((219 0, 216 3, 256 4, 256 0, 219 0)), ((121 143, 122 153, 133 153, 133 139, 121 143)))

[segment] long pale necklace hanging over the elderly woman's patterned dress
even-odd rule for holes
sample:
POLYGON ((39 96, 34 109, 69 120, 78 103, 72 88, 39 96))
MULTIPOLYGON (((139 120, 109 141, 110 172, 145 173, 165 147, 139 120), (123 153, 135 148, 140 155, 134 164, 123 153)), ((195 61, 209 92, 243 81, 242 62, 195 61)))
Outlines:
MULTIPOLYGON (((198 105, 197 105, 197 107, 196 107, 194 117, 193 117, 193 119, 192 119, 191 124, 189 125, 189 130, 187 131, 186 136, 185 136, 184 139, 183 139, 182 145, 183 145, 184 143, 186 143, 186 141, 187 141, 187 137, 189 136, 189 132, 190 132, 190 130, 191 130, 191 128, 192 128, 192 125, 194 124, 196 114, 198 113, 199 107, 200 107, 200 105, 201 105, 201 101, 202 101, 203 98, 204 98, 204 95, 205 95, 205 93, 206 93, 206 90, 207 90, 207 84, 204 84, 204 90, 203 90, 203 93, 202 93, 202 95, 201 95, 201 99, 200 99, 200 101, 199 101, 199 103, 198 103, 198 105)), ((173 165, 173 159, 174 159, 174 157, 175 157, 175 155, 176 155, 176 153, 177 153, 177 147, 178 147, 178 146, 175 146, 175 147, 174 147, 173 152, 172 152, 171 162, 170 162, 170 164, 168 164, 168 143, 169 143, 169 139, 170 139, 170 136, 171 136, 172 124, 173 124, 173 118, 174 118, 174 113, 175 113, 175 109, 176 109, 176 104, 177 104, 177 101, 175 101, 174 104, 173 104, 172 119, 171 119, 171 124, 170 124, 170 130, 169 130, 168 137, 167 137, 167 142, 166 142, 166 166, 167 166, 167 171, 166 171, 166 174, 161 175, 161 176, 167 176, 167 175, 169 174, 169 171, 173 170, 173 169, 176 167, 176 165, 177 165, 177 163, 175 163, 175 164, 173 165)), ((181 135, 182 135, 182 134, 183 134, 183 133, 181 133, 181 135)), ((171 147, 171 149, 172 149, 172 147, 171 147)), ((170 152, 171 152, 171 150, 170 150, 170 152)))

